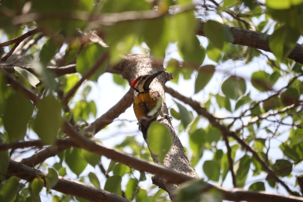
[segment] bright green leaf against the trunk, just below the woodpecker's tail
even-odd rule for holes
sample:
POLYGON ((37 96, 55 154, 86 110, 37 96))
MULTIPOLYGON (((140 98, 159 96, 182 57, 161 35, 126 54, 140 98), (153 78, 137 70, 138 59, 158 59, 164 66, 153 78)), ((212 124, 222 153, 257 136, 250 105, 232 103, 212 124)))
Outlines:
POLYGON ((152 122, 147 132, 149 147, 159 162, 163 162, 166 153, 172 146, 171 134, 166 126, 158 122, 152 122))

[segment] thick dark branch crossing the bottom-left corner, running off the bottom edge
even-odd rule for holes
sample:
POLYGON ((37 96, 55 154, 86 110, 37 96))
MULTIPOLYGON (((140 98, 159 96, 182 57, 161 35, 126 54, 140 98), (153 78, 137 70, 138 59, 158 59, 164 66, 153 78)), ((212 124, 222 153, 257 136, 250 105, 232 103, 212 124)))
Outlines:
MULTIPOLYGON (((42 178, 45 181, 47 173, 10 160, 7 175, 17 176, 31 182, 36 177, 42 178)), ((60 176, 57 184, 52 189, 66 195, 80 197, 91 202, 129 202, 127 199, 116 194, 60 176)))

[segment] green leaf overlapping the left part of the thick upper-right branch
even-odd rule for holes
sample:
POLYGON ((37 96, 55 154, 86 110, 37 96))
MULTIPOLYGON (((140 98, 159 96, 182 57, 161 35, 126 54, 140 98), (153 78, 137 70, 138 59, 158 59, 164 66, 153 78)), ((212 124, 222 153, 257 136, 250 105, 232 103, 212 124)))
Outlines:
POLYGON ((213 45, 219 49, 223 48, 225 33, 221 23, 208 20, 204 25, 204 32, 206 37, 213 43, 213 45))

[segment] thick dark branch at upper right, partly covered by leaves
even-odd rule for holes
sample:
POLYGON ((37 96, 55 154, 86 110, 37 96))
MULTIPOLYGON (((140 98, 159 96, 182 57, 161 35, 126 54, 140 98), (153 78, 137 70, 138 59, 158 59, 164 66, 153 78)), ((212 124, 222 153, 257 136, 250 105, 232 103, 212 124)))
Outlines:
MULTIPOLYGON (((197 33, 198 35, 205 36, 204 33, 205 23, 206 23, 205 20, 199 19, 199 30, 197 33)), ((254 49, 260 49, 267 52, 272 52, 269 48, 270 35, 262 32, 239 28, 239 27, 233 27, 227 25, 224 26, 229 29, 231 35, 233 36, 234 38, 234 41, 232 42, 233 44, 248 46, 254 49)), ((288 58, 303 64, 303 46, 297 44, 295 48, 291 51, 291 53, 288 55, 288 58)))

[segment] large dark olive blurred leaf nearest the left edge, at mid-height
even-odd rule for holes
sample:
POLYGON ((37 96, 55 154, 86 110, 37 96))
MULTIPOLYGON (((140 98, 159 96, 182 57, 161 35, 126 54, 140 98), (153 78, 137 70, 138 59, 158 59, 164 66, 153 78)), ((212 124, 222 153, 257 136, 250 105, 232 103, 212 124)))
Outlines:
POLYGON ((22 94, 16 92, 8 97, 3 114, 3 125, 10 142, 24 139, 33 111, 32 102, 22 94))

